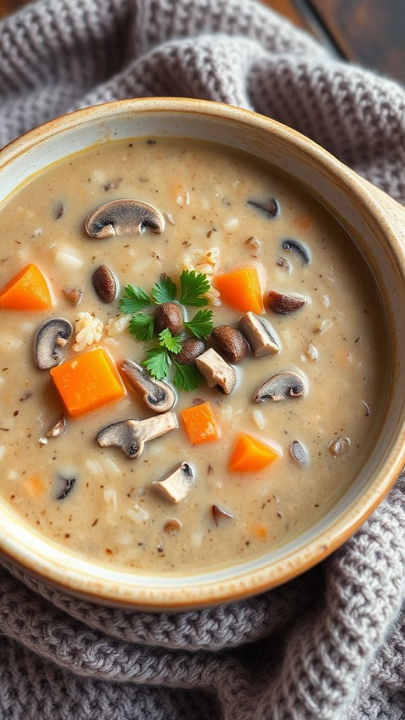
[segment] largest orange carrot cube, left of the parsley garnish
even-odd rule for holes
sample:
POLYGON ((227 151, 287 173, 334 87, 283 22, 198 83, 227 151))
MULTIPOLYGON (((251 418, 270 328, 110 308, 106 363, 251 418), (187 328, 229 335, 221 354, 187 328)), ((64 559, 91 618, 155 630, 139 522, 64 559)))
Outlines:
POLYGON ((104 348, 66 360, 50 374, 72 418, 126 395, 115 363, 104 348))

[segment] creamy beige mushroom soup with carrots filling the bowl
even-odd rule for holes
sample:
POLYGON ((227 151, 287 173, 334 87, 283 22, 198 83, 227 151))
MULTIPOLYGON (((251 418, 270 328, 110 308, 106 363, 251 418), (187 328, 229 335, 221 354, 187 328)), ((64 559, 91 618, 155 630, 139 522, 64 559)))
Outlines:
POLYGON ((28 523, 86 559, 180 573, 257 556, 347 490, 386 402, 386 321, 351 238, 297 182, 219 145, 117 141, 33 176, 0 217, 0 492, 28 523), (117 235, 89 235, 123 199, 117 235), (201 310, 226 328, 182 365, 201 310), (172 363, 159 413, 147 358, 172 363))

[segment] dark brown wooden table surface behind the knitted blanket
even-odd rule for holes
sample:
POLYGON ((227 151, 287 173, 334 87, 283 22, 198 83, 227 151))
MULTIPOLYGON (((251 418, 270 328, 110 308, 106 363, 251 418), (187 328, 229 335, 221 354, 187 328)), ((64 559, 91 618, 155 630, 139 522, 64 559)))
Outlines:
MULTIPOLYGON (((0 18, 29 1, 0 0, 0 18)), ((311 32, 335 56, 361 63, 405 84, 404 0, 262 1, 311 32)))

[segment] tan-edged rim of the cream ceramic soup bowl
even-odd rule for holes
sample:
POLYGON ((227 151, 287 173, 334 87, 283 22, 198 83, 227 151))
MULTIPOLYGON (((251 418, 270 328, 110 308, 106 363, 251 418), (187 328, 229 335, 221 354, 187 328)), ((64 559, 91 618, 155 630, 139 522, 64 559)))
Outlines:
MULTIPOLYGON (((126 114, 127 112, 135 112, 136 114, 158 112, 203 114, 205 117, 220 117, 229 122, 238 122, 249 127, 256 127, 258 130, 266 130, 270 135, 278 135, 295 150, 303 153, 308 158, 308 161, 312 159, 319 168, 323 168, 329 175, 334 176, 334 179, 339 181, 341 186, 344 186, 345 192, 355 194, 368 217, 383 228, 383 232, 389 238, 389 244, 401 269, 404 269, 404 248, 401 246, 400 240, 396 238, 396 234, 386 217, 381 214, 381 205, 378 202, 379 198, 377 198, 377 192, 380 191, 374 189, 373 186, 369 186, 367 181, 362 180, 354 171, 344 166, 324 148, 314 143, 313 140, 309 140, 301 133, 269 117, 264 117, 240 107, 208 100, 172 97, 123 99, 86 107, 50 120, 5 145, 0 150, 0 169, 6 168, 17 156, 32 150, 35 145, 42 143, 49 136, 55 135, 55 133, 71 130, 72 127, 77 128, 97 117, 107 119, 117 114, 117 112, 119 114, 126 114)), ((68 154, 70 153, 67 153, 66 157, 68 154)), ((383 197, 383 194, 381 194, 381 197, 383 197)), ((390 201, 393 202, 391 199, 390 201)), ((400 208, 400 206, 398 207, 400 208)), ((145 586, 131 585, 123 593, 121 589, 111 585, 111 582, 103 582, 99 577, 96 579, 84 575, 78 581, 78 572, 76 572, 76 575, 74 572, 66 575, 66 568, 63 569, 63 567, 58 567, 49 562, 48 564, 46 562, 39 564, 35 552, 32 552, 29 546, 22 546, 21 543, 18 544, 18 541, 14 544, 5 541, 1 531, 0 552, 11 560, 13 564, 19 565, 30 575, 35 575, 47 585, 53 585, 65 590, 67 593, 93 600, 96 603, 122 605, 143 611, 175 612, 233 602, 288 582, 293 577, 301 575, 313 565, 321 562, 331 552, 334 552, 360 527, 383 500, 388 490, 393 487, 397 477, 399 477, 404 464, 405 418, 402 417, 389 456, 366 492, 355 498, 350 510, 335 518, 320 536, 310 539, 305 546, 295 549, 291 553, 294 562, 288 562, 290 557, 285 557, 271 563, 269 567, 248 570, 239 577, 221 580, 221 582, 218 582, 216 589, 214 589, 212 583, 200 583, 200 585, 193 588, 192 593, 187 593, 187 588, 171 589, 170 593, 164 593, 163 601, 162 595, 159 596, 159 589, 151 592, 151 589, 145 586), (284 564, 284 570, 280 568, 277 572, 277 565, 280 564, 284 564)), ((169 575, 167 577, 170 579, 169 575)))

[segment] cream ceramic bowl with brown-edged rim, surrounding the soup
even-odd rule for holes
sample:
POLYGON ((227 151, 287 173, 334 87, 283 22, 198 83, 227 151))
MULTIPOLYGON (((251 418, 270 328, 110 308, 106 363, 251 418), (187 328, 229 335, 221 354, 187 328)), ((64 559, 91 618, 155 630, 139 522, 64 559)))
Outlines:
POLYGON ((50 163, 107 140, 212 140, 298 178, 349 231, 375 276, 392 354, 388 402, 362 471, 321 519, 260 557, 209 572, 137 574, 89 562, 47 541, 0 498, 0 549, 43 582, 99 603, 179 611, 260 593, 320 562, 355 532, 405 464, 405 210, 311 140, 236 107, 189 99, 112 102, 65 115, 1 150, 0 200, 50 163))

